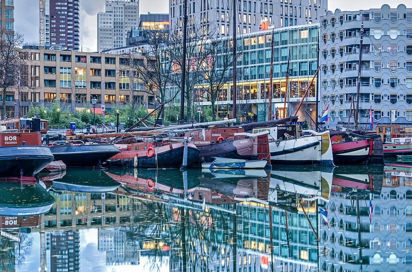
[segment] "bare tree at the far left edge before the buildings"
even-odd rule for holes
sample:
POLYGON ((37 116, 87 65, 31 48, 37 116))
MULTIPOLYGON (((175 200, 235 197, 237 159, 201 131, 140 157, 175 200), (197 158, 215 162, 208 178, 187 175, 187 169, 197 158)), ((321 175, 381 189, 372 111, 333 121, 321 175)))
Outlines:
MULTIPOLYGON (((2 119, 6 117, 6 95, 10 87, 20 84, 28 85, 26 77, 22 78, 21 71, 27 72, 26 60, 22 57, 20 48, 23 35, 0 28, 0 88, 2 92, 2 119)), ((27 73, 24 73, 27 75, 27 73)), ((19 98, 20 99, 20 98, 19 98)))

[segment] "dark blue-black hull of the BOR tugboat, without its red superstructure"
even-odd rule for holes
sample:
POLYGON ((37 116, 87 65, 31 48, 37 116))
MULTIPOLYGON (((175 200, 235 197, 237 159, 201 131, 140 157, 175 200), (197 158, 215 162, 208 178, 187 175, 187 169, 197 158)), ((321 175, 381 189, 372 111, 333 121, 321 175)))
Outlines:
POLYGON ((0 176, 33 176, 53 159, 53 154, 46 146, 2 146, 0 176))

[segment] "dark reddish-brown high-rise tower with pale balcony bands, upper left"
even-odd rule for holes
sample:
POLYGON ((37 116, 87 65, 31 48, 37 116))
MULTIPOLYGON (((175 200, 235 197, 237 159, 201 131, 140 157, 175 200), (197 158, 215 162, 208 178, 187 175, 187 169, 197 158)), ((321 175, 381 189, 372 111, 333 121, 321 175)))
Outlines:
POLYGON ((45 1, 45 45, 79 49, 79 0, 45 1))

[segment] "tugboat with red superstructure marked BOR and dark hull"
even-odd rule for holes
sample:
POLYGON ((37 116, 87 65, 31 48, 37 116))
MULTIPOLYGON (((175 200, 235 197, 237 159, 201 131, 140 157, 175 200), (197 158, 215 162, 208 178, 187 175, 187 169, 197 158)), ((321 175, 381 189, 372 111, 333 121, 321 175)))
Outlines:
POLYGON ((39 132, 0 129, 0 176, 33 176, 53 161, 39 132))

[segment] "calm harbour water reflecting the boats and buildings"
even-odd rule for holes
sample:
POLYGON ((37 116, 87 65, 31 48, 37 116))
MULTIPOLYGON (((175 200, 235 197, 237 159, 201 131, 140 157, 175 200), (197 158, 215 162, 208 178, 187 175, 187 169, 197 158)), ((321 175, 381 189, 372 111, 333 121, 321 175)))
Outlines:
POLYGON ((0 183, 0 270, 412 271, 411 177, 393 164, 0 183))

